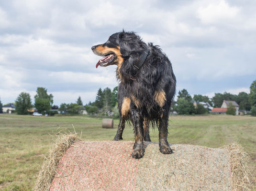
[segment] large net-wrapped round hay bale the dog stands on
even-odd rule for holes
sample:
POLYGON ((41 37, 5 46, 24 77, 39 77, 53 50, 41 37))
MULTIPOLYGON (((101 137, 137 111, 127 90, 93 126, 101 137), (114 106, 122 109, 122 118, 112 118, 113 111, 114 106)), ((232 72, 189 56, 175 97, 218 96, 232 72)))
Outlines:
POLYGON ((131 157, 133 141, 76 141, 63 150, 53 178, 39 174, 48 186, 37 184, 33 190, 248 191, 247 155, 240 145, 211 149, 172 144, 175 152, 170 155, 161 154, 157 143, 145 146, 144 157, 136 160, 131 157))

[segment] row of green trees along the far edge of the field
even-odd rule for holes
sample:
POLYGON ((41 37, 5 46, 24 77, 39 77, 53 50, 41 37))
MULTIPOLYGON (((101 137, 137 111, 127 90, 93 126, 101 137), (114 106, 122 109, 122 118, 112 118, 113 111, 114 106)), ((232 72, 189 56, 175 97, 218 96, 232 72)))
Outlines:
MULTIPOLYGON (((60 107, 53 105, 53 95, 47 93, 47 89, 38 87, 36 95, 34 96, 34 104, 32 104, 31 96, 29 93, 22 92, 15 100, 17 114, 29 114, 31 108, 35 107, 38 112, 42 114, 54 115, 59 110, 62 114, 81 114, 86 110, 89 114, 97 113, 100 115, 107 115, 112 113, 118 117, 117 109, 117 91, 118 87, 113 90, 110 88, 101 88, 98 90, 96 99, 93 102, 89 102, 83 105, 81 97, 78 97, 76 103, 62 103, 60 107), (53 111, 54 110, 54 111, 53 111)), ((239 109, 251 111, 251 114, 256 116, 256 80, 252 82, 250 86, 250 93, 240 92, 238 95, 234 95, 228 92, 215 93, 210 99, 208 96, 195 94, 193 98, 186 89, 178 92, 177 101, 174 101, 170 111, 177 111, 179 114, 204 114, 208 110, 201 104, 197 104, 194 107, 192 101, 208 102, 212 107, 221 107, 223 100, 235 101, 239 105, 239 109)), ((227 113, 234 114, 234 107, 229 109, 227 113), (230 111, 229 111, 230 110, 230 111)), ((0 113, 2 112, 2 103, 0 101, 0 113)))

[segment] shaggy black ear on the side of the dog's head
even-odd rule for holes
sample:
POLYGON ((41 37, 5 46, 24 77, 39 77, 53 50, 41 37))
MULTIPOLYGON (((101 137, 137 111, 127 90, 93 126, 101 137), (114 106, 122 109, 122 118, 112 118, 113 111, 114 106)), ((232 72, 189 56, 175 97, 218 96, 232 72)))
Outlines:
POLYGON ((122 56, 129 56, 133 52, 141 50, 142 40, 135 32, 120 32, 119 45, 122 56))

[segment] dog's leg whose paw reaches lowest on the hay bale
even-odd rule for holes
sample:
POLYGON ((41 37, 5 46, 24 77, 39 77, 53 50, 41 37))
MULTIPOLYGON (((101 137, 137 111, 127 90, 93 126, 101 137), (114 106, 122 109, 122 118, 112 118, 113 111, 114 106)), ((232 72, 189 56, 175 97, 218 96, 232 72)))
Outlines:
POLYGON ((139 115, 138 109, 134 106, 134 109, 131 110, 131 117, 134 123, 134 150, 132 152, 132 157, 135 159, 140 159, 144 155, 144 146, 143 146, 143 119, 139 115))

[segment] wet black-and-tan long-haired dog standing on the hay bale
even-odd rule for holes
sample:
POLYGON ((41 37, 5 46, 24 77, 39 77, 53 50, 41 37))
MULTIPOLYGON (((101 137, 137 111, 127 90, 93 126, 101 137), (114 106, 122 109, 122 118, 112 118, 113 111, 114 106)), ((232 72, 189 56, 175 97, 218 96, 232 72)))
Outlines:
POLYGON ((150 141, 149 123, 159 130, 159 147, 163 154, 172 153, 167 141, 168 115, 176 91, 172 64, 159 46, 146 44, 135 32, 112 34, 103 43, 91 47, 103 56, 98 66, 115 64, 120 122, 114 141, 122 140, 125 121, 134 126, 132 157, 140 159, 145 152, 143 141, 150 141))

